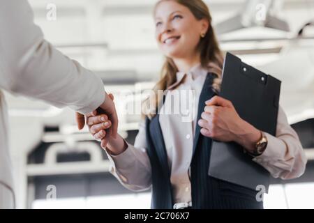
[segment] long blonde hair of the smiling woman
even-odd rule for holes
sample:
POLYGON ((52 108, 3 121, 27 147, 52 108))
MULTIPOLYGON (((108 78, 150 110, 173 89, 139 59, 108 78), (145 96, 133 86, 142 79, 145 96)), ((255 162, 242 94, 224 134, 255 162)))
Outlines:
MULTIPOLYGON (((214 33, 213 26, 211 25, 211 14, 206 3, 202 0, 160 0, 156 3, 155 9, 160 2, 163 1, 175 1, 182 6, 186 6, 197 20, 206 19, 209 22, 209 29, 204 36, 200 39, 200 43, 197 45, 197 51, 200 52, 200 63, 203 68, 207 68, 209 72, 216 75, 212 88, 214 91, 220 91, 221 73, 223 69, 223 53, 220 50, 216 35, 214 33)), ((161 70, 161 77, 156 86, 154 86, 154 95, 150 96, 142 103, 142 115, 153 118, 156 116, 156 108, 160 105, 160 100, 163 97, 158 97, 158 91, 165 91, 169 86, 177 82, 177 66, 174 61, 166 57, 165 63, 161 70), (154 107, 150 107, 153 102, 154 107)))

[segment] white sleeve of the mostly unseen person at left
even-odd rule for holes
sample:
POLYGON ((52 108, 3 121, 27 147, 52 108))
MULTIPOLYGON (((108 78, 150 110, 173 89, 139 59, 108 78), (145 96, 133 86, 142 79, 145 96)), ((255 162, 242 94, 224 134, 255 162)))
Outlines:
POLYGON ((96 74, 48 43, 27 1, 0 0, 0 88, 82 114, 105 100, 96 74))

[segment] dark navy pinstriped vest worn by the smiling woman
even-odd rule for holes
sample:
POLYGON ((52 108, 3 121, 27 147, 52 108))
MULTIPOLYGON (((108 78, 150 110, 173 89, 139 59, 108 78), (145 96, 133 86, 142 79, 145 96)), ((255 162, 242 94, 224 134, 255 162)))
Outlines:
MULTIPOLYGON (((200 95, 197 120, 204 111, 205 102, 212 98, 214 75, 209 73, 200 95)), ((151 208, 172 209, 172 185, 167 163, 165 142, 159 124, 159 115, 146 120, 147 153, 151 162, 152 197, 151 208)), ((241 187, 208 175, 211 155, 211 138, 200 134, 196 125, 193 157, 190 164, 190 183, 193 208, 263 208, 257 202, 255 190, 241 187)), ((253 162, 253 161, 252 161, 253 162)))

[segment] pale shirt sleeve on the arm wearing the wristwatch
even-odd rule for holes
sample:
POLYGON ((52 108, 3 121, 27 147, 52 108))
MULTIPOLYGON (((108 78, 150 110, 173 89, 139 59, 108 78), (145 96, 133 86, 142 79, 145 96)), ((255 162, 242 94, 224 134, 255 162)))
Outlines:
POLYGON ((267 148, 253 161, 261 164, 274 178, 292 179, 304 174, 307 162, 304 149, 281 107, 278 111, 276 137, 267 132, 264 134, 268 140, 267 148))

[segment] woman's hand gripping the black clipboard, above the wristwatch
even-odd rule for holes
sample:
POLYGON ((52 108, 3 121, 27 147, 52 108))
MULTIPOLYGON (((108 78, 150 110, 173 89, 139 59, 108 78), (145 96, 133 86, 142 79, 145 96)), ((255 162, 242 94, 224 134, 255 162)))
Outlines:
POLYGON ((255 142, 260 139, 260 130, 244 121, 234 109, 232 102, 219 96, 214 96, 206 102, 201 117, 198 125, 205 137, 217 141, 235 141, 248 150, 253 149, 255 142))

